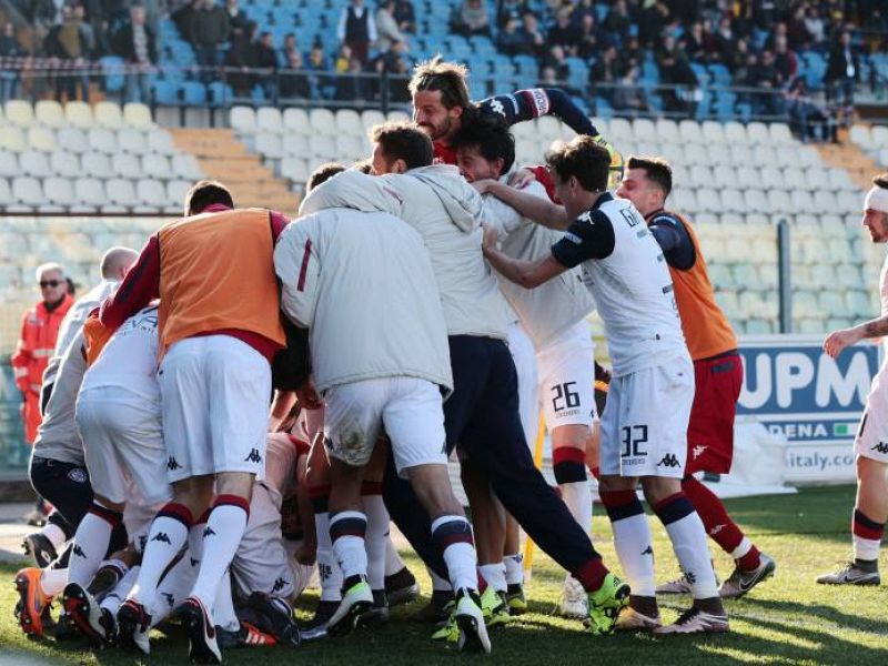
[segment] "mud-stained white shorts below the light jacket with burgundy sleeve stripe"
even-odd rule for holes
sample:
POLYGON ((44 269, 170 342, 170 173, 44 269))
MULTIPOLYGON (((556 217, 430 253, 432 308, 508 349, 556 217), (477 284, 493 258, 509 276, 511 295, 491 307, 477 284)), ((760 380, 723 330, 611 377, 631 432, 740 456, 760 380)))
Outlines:
POLYGON ((441 391, 432 382, 363 380, 329 389, 324 402, 324 441, 336 460, 366 465, 384 426, 402 477, 408 467, 447 463, 441 391))

